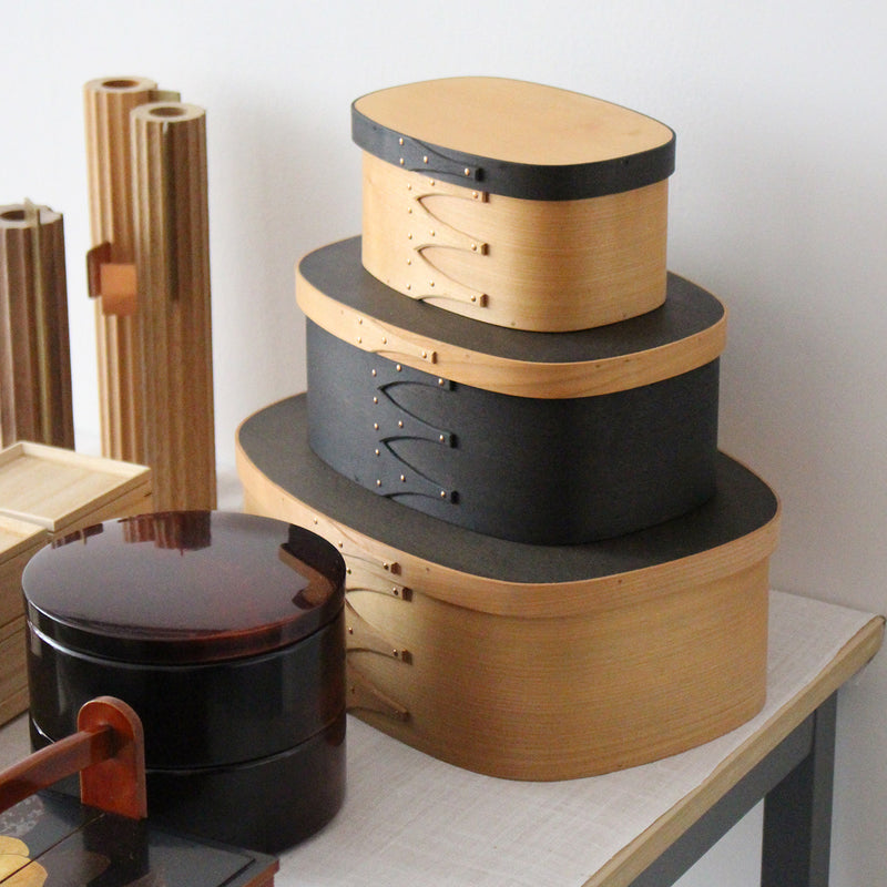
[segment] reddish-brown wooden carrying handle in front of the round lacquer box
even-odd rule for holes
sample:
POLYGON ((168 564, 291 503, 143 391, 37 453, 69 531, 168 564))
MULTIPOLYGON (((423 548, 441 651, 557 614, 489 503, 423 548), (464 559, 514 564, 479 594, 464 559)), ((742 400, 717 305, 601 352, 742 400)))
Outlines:
POLYGON ((0 812, 80 773, 83 804, 141 819, 147 815, 142 722, 120 700, 91 700, 78 732, 0 773, 0 812))

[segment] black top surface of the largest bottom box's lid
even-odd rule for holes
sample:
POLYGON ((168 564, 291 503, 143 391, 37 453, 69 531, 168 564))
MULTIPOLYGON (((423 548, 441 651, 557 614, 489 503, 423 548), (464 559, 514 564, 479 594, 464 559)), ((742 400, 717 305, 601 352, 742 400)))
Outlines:
POLYGON ((305 395, 254 414, 237 438, 268 480, 332 520, 432 563, 502 581, 570 582, 641 570, 735 541, 778 511, 761 478, 718 453, 715 495, 681 518, 582 546, 531 546, 437 520, 343 477, 308 447, 305 395))

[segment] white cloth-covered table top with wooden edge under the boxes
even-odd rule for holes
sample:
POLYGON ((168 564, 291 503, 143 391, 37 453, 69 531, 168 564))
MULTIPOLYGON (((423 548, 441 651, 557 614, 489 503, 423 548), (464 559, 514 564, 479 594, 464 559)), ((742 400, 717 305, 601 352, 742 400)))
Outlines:
MULTIPOLYGON (((845 683, 883 620, 773 592, 768 697, 744 726, 690 752, 559 783, 481 776, 348 720, 347 797, 283 855, 278 887, 618 887, 845 683)), ((28 753, 27 724, 0 731, 0 766, 28 753)))

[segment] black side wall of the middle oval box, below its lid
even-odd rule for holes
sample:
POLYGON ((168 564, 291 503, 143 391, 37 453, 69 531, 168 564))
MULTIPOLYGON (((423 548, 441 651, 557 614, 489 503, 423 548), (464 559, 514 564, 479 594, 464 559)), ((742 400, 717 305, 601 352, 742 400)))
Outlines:
POLYGON ((652 527, 715 491, 718 361, 598 397, 452 384, 308 322, 314 451, 375 495, 479 533, 569 546, 652 527))

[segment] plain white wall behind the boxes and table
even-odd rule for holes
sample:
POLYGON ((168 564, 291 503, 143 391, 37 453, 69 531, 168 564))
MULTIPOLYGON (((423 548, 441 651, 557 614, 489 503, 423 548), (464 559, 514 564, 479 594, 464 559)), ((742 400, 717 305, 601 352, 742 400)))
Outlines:
MULTIPOLYGON (((0 204, 64 214, 79 440, 98 431, 85 81, 151 77, 207 109, 224 466, 243 418, 305 386, 295 261, 359 232, 350 102, 436 77, 534 80, 677 132, 670 266, 731 308, 721 441, 783 500, 773 582, 887 611, 886 9, 0 0, 0 204)), ((840 699, 834 887, 887 877, 886 748, 887 653, 840 699)), ((759 810, 683 887, 752 883, 758 825, 759 810)))

